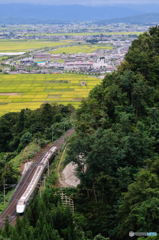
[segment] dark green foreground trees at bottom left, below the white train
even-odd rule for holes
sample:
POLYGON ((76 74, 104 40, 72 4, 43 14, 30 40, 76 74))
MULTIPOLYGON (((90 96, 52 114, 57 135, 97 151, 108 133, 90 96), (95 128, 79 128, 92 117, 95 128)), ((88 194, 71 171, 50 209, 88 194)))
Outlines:
MULTIPOLYGON (((50 188, 50 184, 51 178, 43 194, 37 195, 24 217, 17 219, 16 227, 10 226, 6 219, 0 240, 109 240, 101 234, 93 238, 91 231, 84 231, 85 217, 63 206, 61 191, 50 188)), ((69 196, 75 194, 74 189, 65 192, 69 196)))

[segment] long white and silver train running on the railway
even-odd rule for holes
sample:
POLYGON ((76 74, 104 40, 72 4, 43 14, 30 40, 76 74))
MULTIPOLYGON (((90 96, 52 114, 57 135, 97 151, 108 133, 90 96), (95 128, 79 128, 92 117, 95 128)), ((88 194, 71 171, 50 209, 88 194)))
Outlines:
POLYGON ((21 198, 19 199, 17 205, 16 205, 16 212, 18 214, 22 214, 25 211, 25 208, 30 200, 30 197, 34 193, 37 184, 39 180, 41 179, 41 176, 49 163, 50 158, 53 156, 53 154, 57 151, 57 147, 52 147, 42 158, 41 162, 38 164, 37 169, 21 198))

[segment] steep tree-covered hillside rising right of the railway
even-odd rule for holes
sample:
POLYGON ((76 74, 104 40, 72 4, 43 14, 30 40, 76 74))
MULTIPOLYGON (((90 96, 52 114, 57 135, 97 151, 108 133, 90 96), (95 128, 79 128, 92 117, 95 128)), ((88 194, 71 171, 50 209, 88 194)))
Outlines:
POLYGON ((159 27, 82 103, 68 158, 79 166, 76 205, 93 234, 159 232, 159 27))

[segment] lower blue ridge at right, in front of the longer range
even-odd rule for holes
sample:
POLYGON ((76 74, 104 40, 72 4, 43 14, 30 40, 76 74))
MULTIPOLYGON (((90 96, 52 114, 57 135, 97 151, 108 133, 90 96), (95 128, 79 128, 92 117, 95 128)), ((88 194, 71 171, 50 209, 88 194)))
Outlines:
POLYGON ((114 18, 97 21, 98 24, 109 24, 109 23, 130 23, 130 24, 143 24, 143 25, 155 25, 159 24, 159 13, 147 13, 143 15, 136 15, 125 18, 114 18))

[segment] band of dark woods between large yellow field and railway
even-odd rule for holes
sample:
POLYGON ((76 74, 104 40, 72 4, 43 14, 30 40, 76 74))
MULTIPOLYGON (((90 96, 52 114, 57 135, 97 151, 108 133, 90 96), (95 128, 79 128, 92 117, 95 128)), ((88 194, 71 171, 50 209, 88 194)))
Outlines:
POLYGON ((51 141, 70 127, 72 106, 43 104, 0 118, 0 152, 20 151, 33 139, 51 141), (52 136, 53 135, 53 136, 52 136), (52 139, 53 137, 53 139, 52 139))

